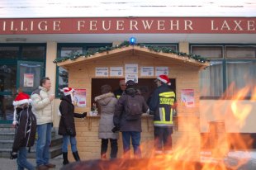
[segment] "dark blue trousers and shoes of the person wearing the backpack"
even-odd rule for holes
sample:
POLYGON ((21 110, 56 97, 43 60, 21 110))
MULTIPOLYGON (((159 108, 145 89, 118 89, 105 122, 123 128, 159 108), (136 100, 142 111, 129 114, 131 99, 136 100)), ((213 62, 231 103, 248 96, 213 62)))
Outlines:
POLYGON ((130 152, 130 138, 131 144, 134 149, 134 155, 136 158, 141 158, 141 151, 140 151, 140 132, 137 131, 125 131, 122 132, 122 139, 123 139, 123 149, 124 153, 130 152))

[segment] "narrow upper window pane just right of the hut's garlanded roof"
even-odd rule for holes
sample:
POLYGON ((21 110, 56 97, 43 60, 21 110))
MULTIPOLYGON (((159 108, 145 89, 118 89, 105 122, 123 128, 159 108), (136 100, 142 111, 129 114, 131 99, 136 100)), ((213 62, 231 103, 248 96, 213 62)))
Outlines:
POLYGON ((207 59, 221 59, 222 47, 221 46, 192 46, 192 54, 201 55, 207 59))

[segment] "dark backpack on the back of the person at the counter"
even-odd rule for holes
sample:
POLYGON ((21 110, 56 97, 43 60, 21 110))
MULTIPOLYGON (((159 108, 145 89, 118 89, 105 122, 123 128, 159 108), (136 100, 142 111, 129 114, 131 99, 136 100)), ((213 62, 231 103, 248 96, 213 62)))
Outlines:
POLYGON ((126 120, 138 120, 142 115, 141 102, 136 97, 127 95, 125 104, 126 120))

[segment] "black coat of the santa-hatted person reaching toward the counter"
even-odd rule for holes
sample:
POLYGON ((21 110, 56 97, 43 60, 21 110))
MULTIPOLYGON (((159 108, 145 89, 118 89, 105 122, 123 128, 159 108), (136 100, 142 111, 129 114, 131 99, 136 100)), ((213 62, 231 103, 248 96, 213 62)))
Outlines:
POLYGON ((70 95, 60 97, 59 111, 61 117, 59 120, 59 135, 70 135, 75 136, 76 130, 74 125, 73 117, 82 118, 83 115, 79 113, 74 113, 74 106, 71 102, 70 95))

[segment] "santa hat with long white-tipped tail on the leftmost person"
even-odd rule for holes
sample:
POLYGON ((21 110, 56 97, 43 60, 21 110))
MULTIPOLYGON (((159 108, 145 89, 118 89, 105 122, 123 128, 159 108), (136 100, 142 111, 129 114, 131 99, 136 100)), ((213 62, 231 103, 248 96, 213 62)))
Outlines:
POLYGON ((19 105, 23 105, 23 104, 30 104, 31 103, 31 99, 30 96, 27 95, 24 92, 19 92, 19 94, 17 95, 17 97, 15 98, 15 100, 13 101, 13 106, 14 106, 14 113, 13 113, 13 121, 12 124, 13 125, 17 125, 17 112, 16 112, 16 108, 19 105))

